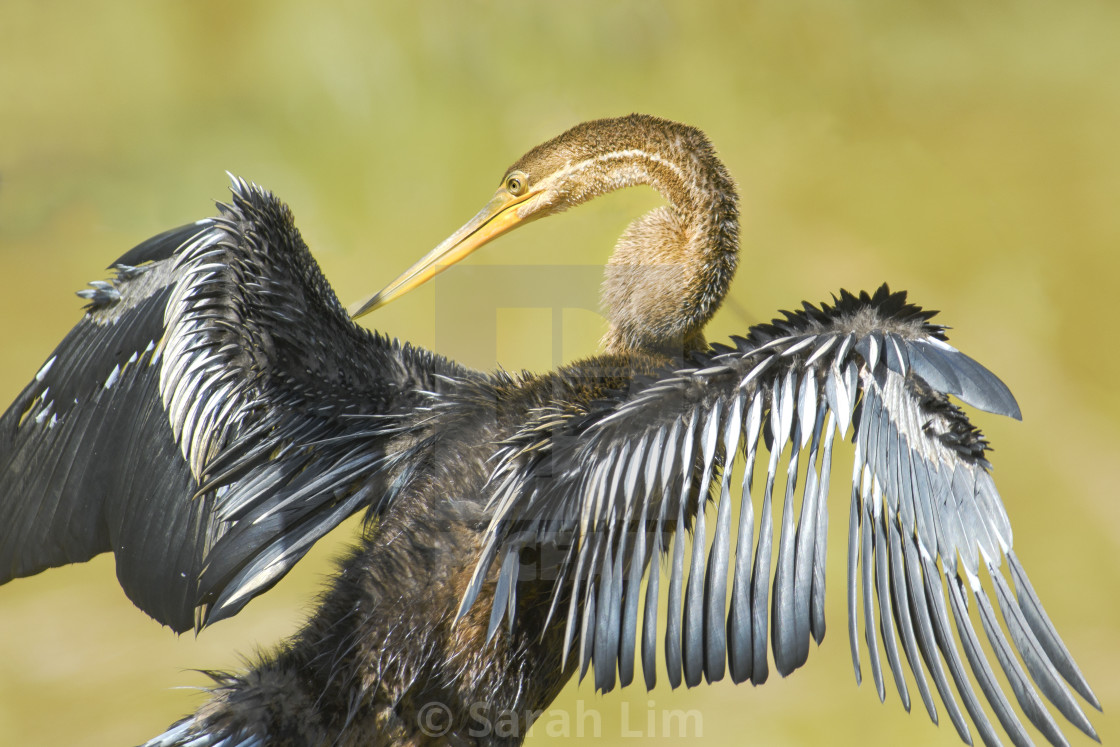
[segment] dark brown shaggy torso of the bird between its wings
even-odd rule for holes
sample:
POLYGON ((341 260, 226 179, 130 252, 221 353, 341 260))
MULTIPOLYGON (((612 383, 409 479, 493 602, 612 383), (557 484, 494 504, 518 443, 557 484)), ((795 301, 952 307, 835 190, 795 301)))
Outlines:
MULTIPOLYGON (((625 386, 634 373, 654 371, 651 360, 634 356, 596 363, 617 373, 594 384, 578 375, 582 366, 479 381, 442 395, 435 412, 416 415, 400 443, 389 446, 411 470, 393 510, 342 561, 308 625, 209 708, 223 698, 253 702, 262 691, 283 693, 282 716, 261 725, 269 734, 306 735, 292 744, 370 745, 423 743, 422 709, 440 703, 452 720, 436 713, 429 731, 482 735, 480 725, 502 718, 507 741, 520 743, 575 670, 571 661, 561 666, 562 628, 550 628, 541 641, 553 588, 548 576, 519 585, 523 624, 510 635, 489 641, 484 605, 456 619, 492 515, 480 455, 495 454, 557 396, 591 402, 625 386)), ((228 720, 234 732, 244 726, 240 719, 259 717, 236 707, 220 713, 217 722, 228 720)))

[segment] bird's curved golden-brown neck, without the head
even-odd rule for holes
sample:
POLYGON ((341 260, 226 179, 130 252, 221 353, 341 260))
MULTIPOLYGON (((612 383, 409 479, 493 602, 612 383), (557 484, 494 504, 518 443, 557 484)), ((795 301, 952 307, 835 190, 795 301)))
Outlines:
POLYGON ((666 205, 632 223, 607 264, 606 351, 679 357, 706 347, 703 327, 738 264, 734 181, 707 140, 690 149, 674 142, 632 149, 615 178, 614 188, 650 185, 666 205))

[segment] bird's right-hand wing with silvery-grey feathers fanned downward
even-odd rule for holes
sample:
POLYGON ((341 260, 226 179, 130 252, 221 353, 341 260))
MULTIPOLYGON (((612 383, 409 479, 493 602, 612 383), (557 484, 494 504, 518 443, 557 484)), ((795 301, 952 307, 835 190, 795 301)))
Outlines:
POLYGON ((903 657, 931 718, 937 716, 926 673, 962 739, 971 744, 950 680, 981 739, 998 744, 952 625, 1000 723, 1016 744, 1030 744, 980 648, 968 611, 972 599, 1030 721, 1049 741, 1065 743, 1040 692, 1095 738, 1063 680, 1099 704, 1011 549, 987 443, 946 395, 1014 418, 1018 407, 993 374, 944 342, 942 328, 927 323, 931 316, 886 286, 874 296, 844 292, 832 306, 806 304, 756 327, 735 348, 666 372, 589 413, 542 411, 510 441, 492 476, 495 515, 463 610, 487 568, 500 562, 491 633, 506 614, 512 625, 520 551, 554 545, 564 562, 553 569, 552 613, 567 617, 566 647, 578 636, 581 673, 595 663, 597 688, 614 687, 616 666, 623 685, 633 679, 643 578, 647 687, 655 680, 657 595, 666 580, 665 659, 673 687, 682 671, 691 687, 721 679, 725 669, 736 682, 763 682, 767 632, 785 675, 805 662, 810 637, 820 642, 824 634, 832 443, 851 426, 848 623, 857 680, 861 616, 880 699, 876 629, 907 708, 903 657), (756 461, 760 506, 754 501, 756 461), (732 470, 740 468, 732 531, 732 470), (782 471, 784 493, 775 496, 782 471), (703 511, 709 499, 716 503, 713 530, 703 511), (781 532, 776 499, 783 504, 781 532), (687 557, 682 530, 690 525, 697 539, 687 557), (668 579, 662 554, 669 555, 668 579))

